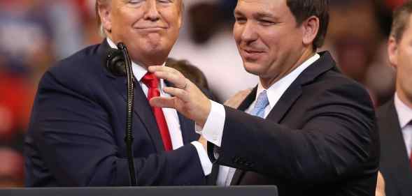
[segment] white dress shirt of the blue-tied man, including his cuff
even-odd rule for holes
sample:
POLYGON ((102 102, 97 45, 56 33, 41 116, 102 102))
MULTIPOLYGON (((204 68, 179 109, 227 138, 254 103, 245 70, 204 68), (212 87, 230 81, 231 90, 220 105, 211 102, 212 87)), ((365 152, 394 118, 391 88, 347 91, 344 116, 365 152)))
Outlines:
MULTIPOLYGON (((267 96, 269 99, 269 105, 264 110, 264 117, 266 118, 272 108, 276 105, 280 97, 285 93, 286 89, 289 88, 290 84, 296 80, 296 78, 306 69, 308 66, 320 58, 319 54, 313 55, 310 59, 306 60, 296 69, 294 69, 291 73, 280 79, 278 82, 272 84, 269 89, 267 90, 267 96)), ((264 87, 262 84, 257 85, 257 95, 259 95, 262 91, 264 91, 264 87)), ((212 142, 216 146, 221 146, 222 144, 222 135, 223 135, 223 127, 225 126, 225 107, 218 103, 212 102, 211 113, 206 120, 203 130, 201 130, 201 134, 203 137, 212 142)), ((253 110, 255 106, 255 101, 248 107, 246 112, 250 112, 253 110)), ((232 178, 234 175, 234 169, 230 169, 227 166, 219 166, 219 174, 218 174, 218 186, 229 186, 232 178)))

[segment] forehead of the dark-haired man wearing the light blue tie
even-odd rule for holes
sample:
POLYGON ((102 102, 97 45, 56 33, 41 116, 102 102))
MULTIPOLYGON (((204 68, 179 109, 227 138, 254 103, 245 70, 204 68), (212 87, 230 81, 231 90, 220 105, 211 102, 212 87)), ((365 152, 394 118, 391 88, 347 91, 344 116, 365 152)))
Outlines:
POLYGON ((239 0, 235 13, 281 16, 288 9, 286 0, 239 0))

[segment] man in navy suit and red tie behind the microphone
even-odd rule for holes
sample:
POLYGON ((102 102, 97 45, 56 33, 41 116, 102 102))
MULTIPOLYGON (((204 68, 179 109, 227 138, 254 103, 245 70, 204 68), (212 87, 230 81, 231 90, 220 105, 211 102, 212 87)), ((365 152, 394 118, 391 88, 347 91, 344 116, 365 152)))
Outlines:
POLYGON ((125 77, 104 68, 123 42, 136 79, 133 116, 138 186, 202 185, 211 172, 206 140, 176 110, 148 66, 164 66, 178 38, 182 0, 98 0, 103 43, 59 61, 43 76, 25 140, 27 186, 127 186, 125 77), (199 140, 199 142, 197 141, 199 140), (201 143, 203 142, 203 143, 201 143))

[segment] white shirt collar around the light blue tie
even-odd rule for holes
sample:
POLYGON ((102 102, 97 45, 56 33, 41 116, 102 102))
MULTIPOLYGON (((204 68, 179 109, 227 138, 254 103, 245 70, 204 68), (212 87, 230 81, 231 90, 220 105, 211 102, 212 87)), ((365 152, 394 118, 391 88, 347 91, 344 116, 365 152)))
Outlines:
MULTIPOLYGON (((291 73, 286 75, 285 77, 281 78, 278 80, 278 82, 275 82, 272 84, 269 89, 267 90, 267 97, 269 99, 269 105, 271 108, 273 108, 276 103, 278 103, 278 100, 280 97, 285 93, 286 89, 289 88, 290 84, 296 80, 296 78, 306 69, 308 66, 311 66, 312 63, 320 59, 319 54, 313 55, 311 58, 308 60, 304 61, 300 66, 295 68, 291 73)), ((257 84, 257 95, 259 95, 262 91, 264 91, 264 87, 262 84, 259 82, 257 84)), ((257 96, 256 96, 257 99, 257 96)))

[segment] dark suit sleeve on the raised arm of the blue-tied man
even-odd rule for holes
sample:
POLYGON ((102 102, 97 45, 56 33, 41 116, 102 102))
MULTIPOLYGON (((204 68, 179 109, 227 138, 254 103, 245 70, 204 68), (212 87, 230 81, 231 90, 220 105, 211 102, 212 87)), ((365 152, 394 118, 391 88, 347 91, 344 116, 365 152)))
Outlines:
POLYGON ((342 85, 308 103, 299 129, 225 107, 218 163, 301 185, 376 173, 378 137, 367 92, 342 85))

